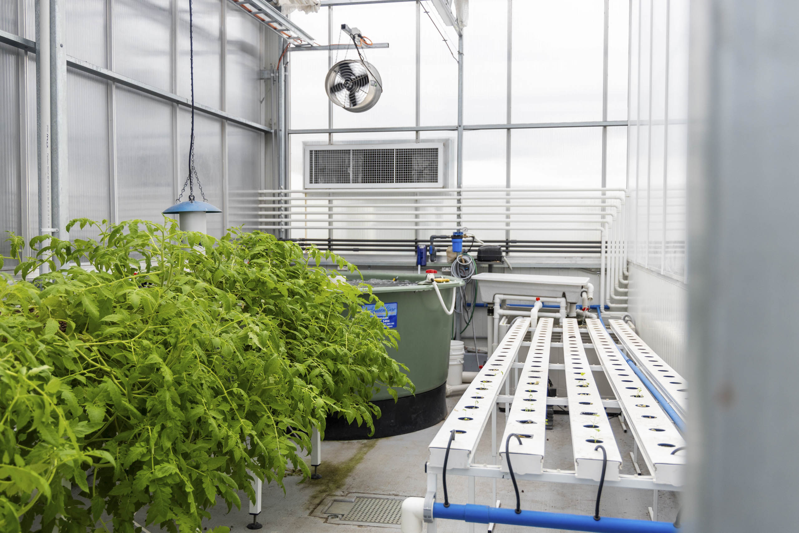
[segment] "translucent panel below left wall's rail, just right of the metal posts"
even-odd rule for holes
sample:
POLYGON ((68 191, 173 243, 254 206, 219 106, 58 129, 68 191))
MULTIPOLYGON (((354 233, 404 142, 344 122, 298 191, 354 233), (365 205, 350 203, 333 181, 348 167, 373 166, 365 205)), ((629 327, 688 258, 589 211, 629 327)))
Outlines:
MULTIPOLYGON (((72 70, 66 75, 70 218, 111 220, 106 83, 72 70)), ((87 237, 97 237, 97 230, 70 231, 70 238, 87 237)))

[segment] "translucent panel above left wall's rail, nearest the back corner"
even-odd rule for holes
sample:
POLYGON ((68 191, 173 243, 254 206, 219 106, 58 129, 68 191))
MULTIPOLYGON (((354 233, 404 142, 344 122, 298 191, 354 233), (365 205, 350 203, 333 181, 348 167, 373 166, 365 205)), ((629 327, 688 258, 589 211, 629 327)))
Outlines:
MULTIPOLYGON (((225 62, 225 110, 250 121, 261 121, 260 25, 248 14, 223 0, 227 6, 228 45, 225 62)), ((283 40, 280 39, 280 43, 283 40)), ((283 45, 281 45, 283 46, 283 45)), ((307 52, 310 54, 310 52, 307 52)))

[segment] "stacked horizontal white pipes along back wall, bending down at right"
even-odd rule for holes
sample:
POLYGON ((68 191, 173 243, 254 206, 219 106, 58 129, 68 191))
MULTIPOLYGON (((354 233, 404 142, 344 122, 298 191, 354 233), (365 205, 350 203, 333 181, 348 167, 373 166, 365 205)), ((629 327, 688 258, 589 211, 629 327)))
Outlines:
MULTIPOLYGON (((364 233, 368 239, 467 227, 478 237, 502 232, 514 240, 595 240, 598 261, 576 250, 548 257, 582 257, 600 268, 597 304, 626 309, 625 189, 403 188, 261 189, 231 193, 231 209, 248 229, 279 231, 294 239, 336 239, 364 233), (355 232, 355 233, 353 233, 355 232), (403 233, 404 232, 404 233, 403 233), (522 235, 523 237, 519 237, 522 235)), ((512 252, 512 250, 511 250, 512 252)), ((352 254, 367 252, 348 252, 352 254)), ((368 253, 396 255, 396 252, 368 253)), ((595 253, 595 252, 593 252, 595 253)), ((592 254, 593 254, 592 253, 592 254)), ((527 252, 514 252, 524 257, 527 252)))

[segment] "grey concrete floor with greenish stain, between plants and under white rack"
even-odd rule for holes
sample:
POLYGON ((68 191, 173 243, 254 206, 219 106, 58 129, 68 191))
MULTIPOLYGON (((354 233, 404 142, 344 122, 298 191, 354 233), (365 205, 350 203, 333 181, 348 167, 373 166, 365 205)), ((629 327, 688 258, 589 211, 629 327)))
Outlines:
MULTIPOLYGON (((447 399, 447 407, 451 410, 458 397, 447 399)), ((557 408, 555 410, 557 413, 557 408)), ((547 432, 547 455, 544 466, 547 468, 563 468, 571 470, 574 462, 571 455, 570 431, 568 416, 555 416, 555 428, 547 432)), ((263 524, 263 533, 354 533, 355 531, 399 531, 399 528, 356 526, 352 524, 330 523, 322 518, 332 496, 347 496, 352 493, 423 496, 426 491, 427 475, 424 473, 424 462, 427 460, 427 445, 441 424, 419 432, 379 440, 332 441, 322 444, 322 465, 319 468, 322 479, 302 481, 299 476, 284 480, 285 493, 276 484, 264 487, 263 512, 258 521, 263 524)), ((622 452, 622 473, 633 474, 634 467, 630 461, 633 438, 630 433, 622 432, 618 418, 611 420, 614 436, 622 452)), ((501 437, 504 429, 504 416, 499 416, 497 432, 501 437)), ((475 463, 491 462, 490 425, 483 433, 475 463)), ((639 464, 646 473, 646 465, 639 464)), ((450 501, 467 503, 467 478, 451 476, 447 479, 450 501)), ((596 487, 563 483, 543 483, 519 481, 519 490, 523 491, 522 508, 536 511, 562 511, 581 515, 592 515, 596 499, 596 487)), ((491 504, 491 479, 476 479, 475 503, 491 504)), ((443 494, 439 478, 439 495, 443 494)), ((637 489, 605 487, 602 491, 601 514, 607 516, 649 519, 647 507, 653 503, 653 492, 637 489)), ((497 480, 497 497, 503 507, 515 505, 513 485, 509 479, 497 480)), ((241 511, 235 508, 230 513, 221 503, 212 511, 206 527, 228 526, 235 533, 250 531, 246 525, 251 521, 248 515, 247 498, 240 493, 244 502, 241 511)), ((677 493, 660 491, 658 497, 658 520, 674 521, 679 508, 677 493)), ((144 519, 145 512, 141 512, 144 519)), ((140 521, 141 523, 141 521, 140 521)), ((149 531, 161 531, 157 527, 149 527, 149 531)), ((438 531, 449 533, 468 531, 464 523, 439 520, 438 531)), ((475 524, 474 531, 486 531, 481 524, 475 524)), ((495 527, 499 533, 511 531, 533 531, 531 528, 499 525, 495 527)), ((556 531, 537 529, 535 531, 556 531)))

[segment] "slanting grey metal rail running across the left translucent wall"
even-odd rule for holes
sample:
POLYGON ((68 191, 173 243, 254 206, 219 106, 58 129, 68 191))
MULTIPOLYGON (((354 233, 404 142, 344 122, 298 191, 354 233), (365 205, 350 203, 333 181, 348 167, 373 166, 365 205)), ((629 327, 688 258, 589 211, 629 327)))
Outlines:
MULTIPOLYGON (((31 41, 30 39, 26 39, 18 35, 10 34, 6 31, 0 30, 0 43, 14 46, 14 48, 18 48, 19 50, 24 50, 33 54, 36 53, 35 41, 31 41)), ((182 107, 190 108, 192 105, 192 102, 189 100, 189 98, 178 96, 177 94, 170 93, 164 89, 158 89, 157 87, 149 86, 146 83, 137 82, 137 80, 134 80, 133 78, 128 78, 127 76, 113 72, 113 70, 108 70, 101 66, 93 65, 92 63, 83 61, 82 59, 74 58, 68 55, 66 56, 66 66, 74 70, 79 70, 82 73, 90 74, 97 78, 117 83, 120 86, 134 89, 140 93, 145 93, 149 96, 157 97, 161 100, 181 105, 182 107)), ((254 129, 261 133, 273 133, 273 130, 265 125, 248 121, 245 118, 237 117, 230 113, 226 113, 225 111, 221 111, 220 109, 214 109, 208 105, 195 103, 194 109, 197 109, 197 111, 205 113, 211 117, 217 117, 221 118, 222 120, 229 121, 231 124, 243 126, 244 128, 254 129)))

